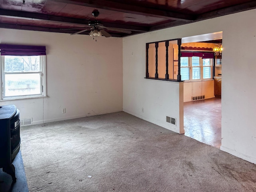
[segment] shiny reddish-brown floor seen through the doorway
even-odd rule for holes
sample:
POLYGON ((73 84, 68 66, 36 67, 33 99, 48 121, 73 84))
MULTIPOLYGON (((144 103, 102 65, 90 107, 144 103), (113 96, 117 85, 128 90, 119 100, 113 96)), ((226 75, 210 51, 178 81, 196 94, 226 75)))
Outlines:
POLYGON ((184 103, 185 136, 220 148, 221 98, 184 103))

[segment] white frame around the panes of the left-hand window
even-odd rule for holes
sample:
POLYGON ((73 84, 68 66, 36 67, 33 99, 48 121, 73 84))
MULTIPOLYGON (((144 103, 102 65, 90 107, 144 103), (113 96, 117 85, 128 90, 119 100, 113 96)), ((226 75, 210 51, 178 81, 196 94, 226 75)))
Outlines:
POLYGON ((6 100, 18 100, 18 99, 26 99, 26 98, 40 98, 46 97, 46 55, 40 55, 40 65, 41 71, 39 72, 5 72, 4 71, 4 60, 5 56, 1 56, 0 59, 0 79, 1 79, 1 97, 0 101, 6 100), (5 82, 4 82, 4 75, 5 74, 40 74, 40 94, 32 94, 32 95, 25 95, 25 96, 5 96, 5 82))

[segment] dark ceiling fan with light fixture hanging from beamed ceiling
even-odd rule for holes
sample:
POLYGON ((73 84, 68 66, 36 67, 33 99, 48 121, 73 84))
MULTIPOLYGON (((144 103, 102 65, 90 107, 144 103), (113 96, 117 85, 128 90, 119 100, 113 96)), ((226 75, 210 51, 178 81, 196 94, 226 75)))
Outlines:
POLYGON ((80 34, 82 32, 91 30, 89 35, 92 36, 93 39, 95 38, 96 41, 97 41, 96 37, 100 37, 100 36, 111 37, 111 35, 108 32, 106 32, 106 30, 122 32, 122 33, 127 33, 127 34, 132 33, 130 30, 125 30, 125 29, 120 29, 120 28, 112 28, 112 27, 104 27, 103 24, 96 19, 96 17, 98 17, 99 14, 100 14, 100 12, 97 9, 94 9, 92 11, 92 15, 94 16, 95 20, 94 21, 89 21, 88 26, 78 27, 78 28, 62 29, 62 30, 73 30, 73 29, 82 29, 82 28, 90 27, 89 29, 84 29, 84 30, 78 31, 76 33, 73 33, 71 35, 76 35, 76 34, 80 34))

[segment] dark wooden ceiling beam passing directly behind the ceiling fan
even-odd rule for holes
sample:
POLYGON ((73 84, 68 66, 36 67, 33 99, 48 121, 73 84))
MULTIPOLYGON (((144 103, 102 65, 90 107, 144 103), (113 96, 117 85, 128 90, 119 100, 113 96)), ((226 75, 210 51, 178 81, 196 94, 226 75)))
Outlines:
MULTIPOLYGON (((88 26, 88 21, 89 21, 84 19, 75 19, 75 18, 67 18, 67 17, 52 16, 52 15, 46 15, 46 14, 38 14, 38 13, 31 13, 31 12, 24 12, 24 11, 3 10, 3 9, 0 9, 0 17, 47 21, 47 22, 53 22, 58 24, 60 23, 70 24, 70 25, 76 24, 76 25, 81 25, 81 27, 88 26)), ((108 22, 104 22, 103 24, 106 27, 121 28, 121 29, 138 31, 138 32, 148 32, 148 28, 142 27, 142 26, 113 24, 108 22)))

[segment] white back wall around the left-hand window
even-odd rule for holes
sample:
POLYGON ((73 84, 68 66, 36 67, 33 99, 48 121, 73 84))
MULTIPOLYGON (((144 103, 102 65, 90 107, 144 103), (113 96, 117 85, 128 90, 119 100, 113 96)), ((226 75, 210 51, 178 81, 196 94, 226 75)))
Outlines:
POLYGON ((0 43, 46 46, 45 98, 15 104, 33 124, 122 111, 122 39, 0 29, 0 43), (66 113, 62 114, 62 108, 66 113))

